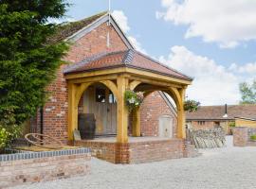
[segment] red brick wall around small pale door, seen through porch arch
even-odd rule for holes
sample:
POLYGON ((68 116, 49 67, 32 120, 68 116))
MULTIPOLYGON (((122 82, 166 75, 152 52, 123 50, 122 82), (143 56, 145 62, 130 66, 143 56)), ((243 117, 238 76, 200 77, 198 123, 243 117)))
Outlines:
POLYGON ((167 105, 165 100, 162 98, 162 96, 159 94, 159 92, 149 94, 141 105, 141 133, 143 133, 145 136, 158 136, 159 117, 161 115, 170 115, 173 117, 173 137, 176 137, 176 116, 167 105))

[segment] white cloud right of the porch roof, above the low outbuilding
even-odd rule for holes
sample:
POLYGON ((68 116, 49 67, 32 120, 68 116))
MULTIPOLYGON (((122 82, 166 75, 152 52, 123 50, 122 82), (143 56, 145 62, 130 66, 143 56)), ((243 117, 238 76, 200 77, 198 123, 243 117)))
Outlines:
POLYGON ((194 77, 188 88, 189 98, 196 99, 202 105, 236 104, 240 94, 238 85, 242 77, 237 77, 228 68, 217 64, 207 57, 195 55, 185 46, 174 46, 168 58, 160 61, 194 77))

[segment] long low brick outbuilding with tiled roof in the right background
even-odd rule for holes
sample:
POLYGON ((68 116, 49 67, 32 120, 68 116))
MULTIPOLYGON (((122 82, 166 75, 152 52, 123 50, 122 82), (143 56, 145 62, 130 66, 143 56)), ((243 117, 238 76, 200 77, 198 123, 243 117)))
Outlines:
POLYGON ((196 112, 186 113, 186 124, 192 129, 222 127, 230 133, 230 126, 256 125, 255 118, 255 105, 201 106, 196 112))

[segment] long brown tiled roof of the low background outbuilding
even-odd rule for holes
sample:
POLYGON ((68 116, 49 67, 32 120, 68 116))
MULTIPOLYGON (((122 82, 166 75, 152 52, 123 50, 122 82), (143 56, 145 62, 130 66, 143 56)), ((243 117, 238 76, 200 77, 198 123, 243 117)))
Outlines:
POLYGON ((256 118, 256 105, 229 105, 228 117, 225 106, 201 106, 196 112, 186 112, 187 120, 229 120, 235 117, 256 118))

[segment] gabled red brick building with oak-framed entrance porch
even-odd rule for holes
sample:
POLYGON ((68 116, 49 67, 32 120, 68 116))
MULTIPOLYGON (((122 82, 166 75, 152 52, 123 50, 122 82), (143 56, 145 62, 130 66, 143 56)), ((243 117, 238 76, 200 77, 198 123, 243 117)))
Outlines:
MULTIPOLYGON (((43 113, 39 112, 31 122, 32 130, 70 141, 73 130, 77 129, 78 113, 94 113, 97 137, 117 135, 117 143, 103 143, 102 159, 109 159, 107 151, 114 150, 110 162, 141 162, 129 159, 131 147, 141 145, 127 144, 127 137, 132 135, 174 139, 168 141, 173 144, 172 153, 165 153, 163 159, 189 156, 190 146, 183 140, 182 104, 186 86, 192 81, 190 77, 137 52, 108 12, 60 26, 49 42, 60 41, 70 43, 63 59, 67 64, 61 66, 55 81, 48 86, 49 100, 43 113), (128 88, 143 91, 146 96, 139 112, 133 112, 129 118, 120 102, 123 100, 120 90, 128 88), (174 97, 177 111, 167 95, 174 97), (104 151, 106 148, 108 150, 104 151)), ((148 146, 159 150, 154 144, 148 141, 148 146)), ((76 145, 93 148, 99 143, 80 141, 76 145)), ((166 143, 160 141, 158 145, 166 146, 166 143)))

